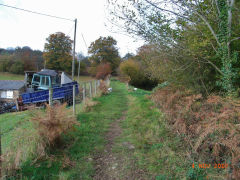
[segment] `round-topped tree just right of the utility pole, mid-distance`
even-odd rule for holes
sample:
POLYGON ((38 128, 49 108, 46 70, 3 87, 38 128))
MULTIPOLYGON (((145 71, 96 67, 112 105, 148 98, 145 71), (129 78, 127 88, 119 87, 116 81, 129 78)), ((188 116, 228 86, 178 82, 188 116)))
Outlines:
POLYGON ((92 66, 97 66, 100 63, 109 63, 113 72, 116 72, 120 63, 118 49, 116 48, 117 41, 111 36, 100 37, 92 42, 88 48, 91 54, 89 60, 92 66))

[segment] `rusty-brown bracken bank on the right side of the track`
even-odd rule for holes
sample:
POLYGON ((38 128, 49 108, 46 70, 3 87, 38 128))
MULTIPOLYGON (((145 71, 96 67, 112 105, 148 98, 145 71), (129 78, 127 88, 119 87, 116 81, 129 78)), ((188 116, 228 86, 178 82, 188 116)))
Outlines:
POLYGON ((228 178, 240 178, 240 101, 211 95, 204 99, 184 88, 165 87, 150 97, 170 126, 184 135, 192 154, 205 163, 227 163, 228 178))

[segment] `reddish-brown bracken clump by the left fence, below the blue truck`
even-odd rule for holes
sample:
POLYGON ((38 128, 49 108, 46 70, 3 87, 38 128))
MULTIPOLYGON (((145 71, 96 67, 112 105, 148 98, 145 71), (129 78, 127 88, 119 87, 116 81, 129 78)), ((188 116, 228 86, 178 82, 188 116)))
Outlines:
POLYGON ((36 112, 32 121, 45 144, 50 146, 59 145, 61 135, 70 131, 74 125, 79 125, 71 110, 66 109, 66 104, 54 107, 47 105, 45 114, 36 112))

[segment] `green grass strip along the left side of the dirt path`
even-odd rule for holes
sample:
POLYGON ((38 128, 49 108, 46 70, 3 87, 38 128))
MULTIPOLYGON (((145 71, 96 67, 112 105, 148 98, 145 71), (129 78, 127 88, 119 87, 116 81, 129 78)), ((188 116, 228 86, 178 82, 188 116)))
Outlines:
POLYGON ((19 170, 23 179, 92 179, 93 157, 103 151, 104 134, 112 121, 127 110, 125 86, 112 82, 113 92, 95 98, 98 102, 90 112, 81 112, 77 119, 80 126, 62 138, 62 146, 49 151, 49 158, 37 162, 27 161, 19 170))

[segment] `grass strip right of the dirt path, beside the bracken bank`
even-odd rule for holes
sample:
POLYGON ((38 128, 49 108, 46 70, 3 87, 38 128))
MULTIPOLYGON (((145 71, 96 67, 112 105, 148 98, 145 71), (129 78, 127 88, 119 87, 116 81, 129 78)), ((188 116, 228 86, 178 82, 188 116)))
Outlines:
MULTIPOLYGON (((149 91, 140 89, 129 92, 129 109, 125 121, 122 121, 123 134, 118 139, 115 152, 135 162, 145 171, 147 179, 194 177, 199 170, 192 170, 192 162, 186 156, 187 149, 181 137, 172 133, 164 115, 146 98, 146 94, 149 91), (123 142, 133 144, 134 151, 123 147, 123 142)), ((131 165, 131 162, 127 164, 131 165)), ((200 172, 200 175, 204 174, 200 172)))

